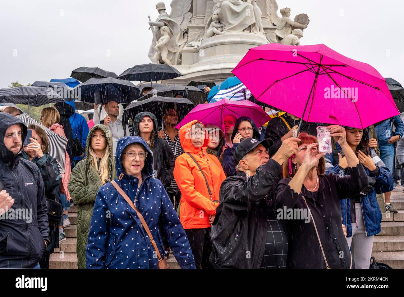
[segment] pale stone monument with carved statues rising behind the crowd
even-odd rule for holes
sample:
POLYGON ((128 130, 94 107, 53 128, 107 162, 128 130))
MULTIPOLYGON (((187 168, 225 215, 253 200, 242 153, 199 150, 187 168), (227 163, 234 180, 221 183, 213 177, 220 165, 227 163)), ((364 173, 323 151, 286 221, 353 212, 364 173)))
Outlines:
POLYGON ((309 23, 305 14, 292 21, 290 8, 282 8, 279 17, 276 0, 172 0, 170 6, 168 15, 158 2, 157 20, 149 17, 152 63, 173 65, 184 74, 167 84, 220 83, 233 76, 230 71, 249 48, 282 39, 296 44, 309 23), (301 34, 293 35, 293 29, 301 34))

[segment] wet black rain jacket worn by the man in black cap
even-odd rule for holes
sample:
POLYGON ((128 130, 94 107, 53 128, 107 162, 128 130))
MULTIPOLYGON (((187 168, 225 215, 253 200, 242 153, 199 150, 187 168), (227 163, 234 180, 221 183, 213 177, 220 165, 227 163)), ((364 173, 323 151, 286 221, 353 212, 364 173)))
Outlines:
POLYGON ((280 179, 282 166, 269 159, 251 178, 238 172, 223 181, 210 231, 213 242, 210 263, 215 268, 261 267, 269 231, 267 208, 273 205, 275 186, 280 179))

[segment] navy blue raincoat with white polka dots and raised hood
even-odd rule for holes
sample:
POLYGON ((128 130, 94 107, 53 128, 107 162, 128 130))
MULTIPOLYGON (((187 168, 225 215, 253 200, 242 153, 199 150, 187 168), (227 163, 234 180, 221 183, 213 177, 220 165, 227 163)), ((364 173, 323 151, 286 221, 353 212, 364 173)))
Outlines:
MULTIPOLYGON (((164 255, 161 226, 164 238, 181 268, 195 269, 194 256, 185 230, 162 183, 153 177, 153 156, 143 138, 121 138, 116 148, 115 164, 118 176, 115 182, 135 201, 160 254, 164 255), (139 179, 124 174, 121 163, 122 152, 132 143, 140 143, 148 151, 142 170, 143 183, 138 192, 139 179)), ((88 233, 86 266, 107 269, 158 268, 158 259, 139 217, 110 182, 99 189, 95 199, 88 233)))

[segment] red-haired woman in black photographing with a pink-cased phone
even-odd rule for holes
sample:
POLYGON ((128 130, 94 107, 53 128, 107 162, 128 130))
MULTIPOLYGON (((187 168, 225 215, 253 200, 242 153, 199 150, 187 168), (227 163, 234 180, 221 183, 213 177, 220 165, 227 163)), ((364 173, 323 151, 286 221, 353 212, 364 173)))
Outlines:
MULTIPOLYGON (((297 154, 283 166, 284 179, 278 183, 276 207, 295 214, 284 219, 288 227, 289 268, 349 269, 351 254, 341 227, 340 200, 358 194, 368 186, 362 164, 346 141, 339 125, 327 127, 345 153, 347 176, 324 174, 324 153, 319 153, 315 136, 300 133, 297 154), (303 218, 302 218, 303 216, 303 218)), ((286 214, 283 216, 286 218, 286 214)))

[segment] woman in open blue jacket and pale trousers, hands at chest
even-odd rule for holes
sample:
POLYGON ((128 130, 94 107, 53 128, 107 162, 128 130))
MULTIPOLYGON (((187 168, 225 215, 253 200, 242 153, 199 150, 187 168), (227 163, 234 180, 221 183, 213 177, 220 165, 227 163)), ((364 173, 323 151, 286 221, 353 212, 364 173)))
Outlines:
MULTIPOLYGON (((362 194, 341 200, 342 222, 347 228, 347 241, 355 269, 369 269, 373 240, 381 230, 382 215, 376 193, 393 190, 393 176, 376 152, 369 147, 368 129, 349 127, 345 130, 347 144, 365 167, 369 186, 362 194)), ((339 150, 338 159, 334 160, 332 155, 326 155, 326 158, 332 165, 336 163, 334 167, 328 168, 326 173, 348 174, 347 158, 342 150, 339 150)))

